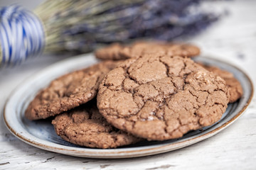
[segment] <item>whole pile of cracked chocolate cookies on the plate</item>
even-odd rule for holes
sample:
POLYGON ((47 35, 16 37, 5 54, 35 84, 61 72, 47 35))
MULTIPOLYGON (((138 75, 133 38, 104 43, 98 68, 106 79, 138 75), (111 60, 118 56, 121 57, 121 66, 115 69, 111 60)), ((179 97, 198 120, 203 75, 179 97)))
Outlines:
POLYGON ((31 101, 26 118, 55 116, 57 135, 85 147, 182 137, 216 123, 242 96, 233 74, 190 59, 199 52, 162 42, 97 50, 104 61, 53 80, 31 101))

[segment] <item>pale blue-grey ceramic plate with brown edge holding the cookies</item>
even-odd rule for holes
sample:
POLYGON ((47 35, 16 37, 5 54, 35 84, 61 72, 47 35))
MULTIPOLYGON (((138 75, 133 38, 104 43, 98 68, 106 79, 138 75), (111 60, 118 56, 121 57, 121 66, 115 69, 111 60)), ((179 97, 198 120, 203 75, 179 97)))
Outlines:
POLYGON ((223 117, 218 123, 201 130, 188 132, 179 139, 162 142, 139 142, 136 145, 119 147, 117 149, 92 149, 73 145, 62 140, 55 134, 50 119, 30 121, 24 118, 24 111, 26 110, 28 103, 40 89, 46 87, 51 80, 60 77, 60 75, 96 63, 97 60, 95 60, 93 55, 81 55, 68 60, 63 60, 43 69, 41 72, 38 72, 38 74, 35 74, 30 79, 24 81, 23 84, 18 86, 18 88, 11 94, 9 100, 6 101, 6 106, 4 108, 4 121, 6 127, 16 135, 16 137, 29 145, 46 149, 51 152, 73 155, 75 157, 107 159, 142 157, 169 152, 192 145, 201 140, 205 140, 208 137, 212 137, 237 120, 247 108, 253 94, 252 81, 250 81, 250 78, 240 69, 228 63, 220 62, 208 57, 196 57, 194 60, 233 72, 235 77, 242 84, 244 95, 239 101, 228 105, 227 111, 223 114, 223 117))

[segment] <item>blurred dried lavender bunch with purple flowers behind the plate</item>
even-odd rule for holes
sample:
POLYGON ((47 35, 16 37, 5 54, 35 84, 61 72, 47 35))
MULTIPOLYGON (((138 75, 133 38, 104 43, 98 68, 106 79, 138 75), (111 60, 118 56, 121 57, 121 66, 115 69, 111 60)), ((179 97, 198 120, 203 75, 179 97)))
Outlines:
POLYGON ((46 28, 46 51, 90 52, 112 42, 138 38, 169 41, 196 35, 220 18, 202 11, 201 3, 201 0, 46 1, 35 12, 46 28))

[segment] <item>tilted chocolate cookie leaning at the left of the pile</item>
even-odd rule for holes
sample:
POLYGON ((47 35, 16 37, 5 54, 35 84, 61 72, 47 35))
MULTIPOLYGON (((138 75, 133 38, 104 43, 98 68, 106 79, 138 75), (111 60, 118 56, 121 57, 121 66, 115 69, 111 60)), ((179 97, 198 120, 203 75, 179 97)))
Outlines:
POLYGON ((30 120, 48 118, 94 98, 102 77, 119 62, 106 61, 65 74, 40 91, 26 109, 30 120))

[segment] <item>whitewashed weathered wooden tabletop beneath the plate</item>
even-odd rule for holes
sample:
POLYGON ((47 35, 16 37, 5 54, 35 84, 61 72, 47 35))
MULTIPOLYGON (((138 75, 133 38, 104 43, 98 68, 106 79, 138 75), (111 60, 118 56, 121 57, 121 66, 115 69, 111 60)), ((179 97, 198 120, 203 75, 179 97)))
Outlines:
MULTIPOLYGON (((2 5, 2 4, 0 4, 2 5)), ((256 84, 256 1, 222 1, 230 14, 189 42, 203 55, 230 62, 256 84)), ((174 152, 134 159, 86 159, 37 149, 18 140, 2 118, 6 98, 31 74, 65 57, 43 55, 0 70, 0 169, 256 169, 256 98, 233 125, 174 152)))

